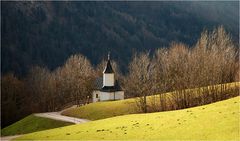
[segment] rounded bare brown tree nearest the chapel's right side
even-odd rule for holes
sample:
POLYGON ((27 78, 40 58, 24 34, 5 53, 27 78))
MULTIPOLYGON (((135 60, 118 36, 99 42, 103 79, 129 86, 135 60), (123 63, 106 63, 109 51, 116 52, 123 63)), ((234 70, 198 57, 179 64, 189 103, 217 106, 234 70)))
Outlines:
POLYGON ((126 93, 137 96, 137 105, 147 112, 147 96, 152 92, 151 61, 148 53, 135 55, 129 65, 129 75, 125 79, 126 93))

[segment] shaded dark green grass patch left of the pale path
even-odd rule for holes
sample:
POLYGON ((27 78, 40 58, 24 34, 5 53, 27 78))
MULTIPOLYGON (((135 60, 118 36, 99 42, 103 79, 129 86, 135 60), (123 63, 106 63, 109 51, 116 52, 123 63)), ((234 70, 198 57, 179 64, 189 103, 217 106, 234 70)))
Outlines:
POLYGON ((73 123, 29 115, 24 119, 8 127, 3 128, 1 130, 1 135, 8 136, 8 135, 26 134, 26 133, 32 133, 36 131, 52 129, 52 128, 57 128, 57 127, 62 127, 62 126, 67 126, 72 124, 73 123))

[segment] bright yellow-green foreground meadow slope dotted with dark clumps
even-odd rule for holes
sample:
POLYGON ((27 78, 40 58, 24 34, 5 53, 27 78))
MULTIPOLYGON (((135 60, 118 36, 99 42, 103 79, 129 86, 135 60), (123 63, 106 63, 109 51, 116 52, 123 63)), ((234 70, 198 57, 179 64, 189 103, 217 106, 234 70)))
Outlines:
POLYGON ((17 139, 237 140, 239 103, 238 96, 195 108, 119 116, 35 132, 17 139))

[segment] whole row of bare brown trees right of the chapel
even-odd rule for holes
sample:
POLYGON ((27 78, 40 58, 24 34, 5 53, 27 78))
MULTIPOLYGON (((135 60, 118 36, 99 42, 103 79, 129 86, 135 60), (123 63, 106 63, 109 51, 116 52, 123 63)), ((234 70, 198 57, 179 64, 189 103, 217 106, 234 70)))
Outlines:
MULTIPOLYGON (((144 88, 148 89, 148 95, 174 91, 172 101, 168 101, 171 109, 203 105, 234 95, 224 83, 237 80, 239 55, 223 27, 212 32, 204 31, 192 48, 173 43, 169 48, 157 50, 152 60, 143 56, 135 56, 129 65, 129 75, 125 79, 127 94, 141 97, 144 88), (146 67, 148 64, 150 71, 146 67), (220 87, 216 84, 220 84, 220 87), (190 90, 193 88, 195 92, 190 90)), ((164 95, 151 98, 150 111, 169 108, 164 95), (159 101, 156 101, 157 97, 159 101)), ((144 102, 142 99, 141 105, 146 105, 144 102)))

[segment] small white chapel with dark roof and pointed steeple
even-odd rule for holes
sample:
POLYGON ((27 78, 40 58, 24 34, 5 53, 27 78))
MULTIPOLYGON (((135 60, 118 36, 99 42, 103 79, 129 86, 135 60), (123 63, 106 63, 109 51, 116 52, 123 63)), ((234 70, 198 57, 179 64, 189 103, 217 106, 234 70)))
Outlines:
POLYGON ((95 81, 95 90, 92 93, 93 102, 124 99, 124 91, 114 77, 114 71, 108 54, 108 61, 103 71, 103 77, 95 81))

